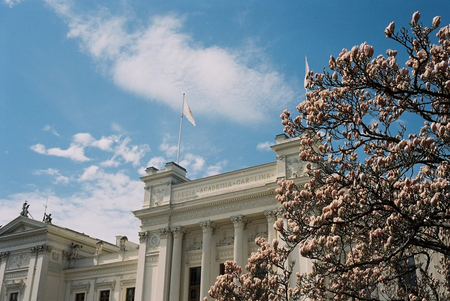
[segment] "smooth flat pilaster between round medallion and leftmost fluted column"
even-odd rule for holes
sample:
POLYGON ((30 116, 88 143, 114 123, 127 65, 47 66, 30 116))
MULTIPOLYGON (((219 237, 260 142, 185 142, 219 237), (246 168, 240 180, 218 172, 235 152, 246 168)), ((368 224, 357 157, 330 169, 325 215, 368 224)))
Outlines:
POLYGON ((169 228, 159 229, 159 257, 156 300, 168 301, 172 266, 172 234, 169 228))

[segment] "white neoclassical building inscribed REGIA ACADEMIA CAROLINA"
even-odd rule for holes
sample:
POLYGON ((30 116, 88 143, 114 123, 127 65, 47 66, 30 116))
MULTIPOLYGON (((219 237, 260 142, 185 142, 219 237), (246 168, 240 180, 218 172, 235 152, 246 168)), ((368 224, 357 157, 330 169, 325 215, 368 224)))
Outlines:
POLYGON ((256 237, 277 236, 277 180, 307 181, 300 139, 275 140, 275 162, 198 180, 173 162, 147 168, 139 244, 17 217, 0 228, 0 301, 201 300, 225 261, 245 266, 256 237))

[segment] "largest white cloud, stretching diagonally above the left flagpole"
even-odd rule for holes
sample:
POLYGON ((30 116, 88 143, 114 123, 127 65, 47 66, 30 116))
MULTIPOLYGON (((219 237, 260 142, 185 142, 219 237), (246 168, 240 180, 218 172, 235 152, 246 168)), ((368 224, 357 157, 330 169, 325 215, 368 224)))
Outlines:
POLYGON ((195 116, 248 122, 298 96, 251 43, 241 49, 205 47, 183 32, 184 20, 175 16, 154 16, 147 27, 133 30, 135 20, 108 9, 77 15, 67 4, 48 3, 68 23, 67 37, 78 39, 118 86, 173 109, 185 92, 195 116))

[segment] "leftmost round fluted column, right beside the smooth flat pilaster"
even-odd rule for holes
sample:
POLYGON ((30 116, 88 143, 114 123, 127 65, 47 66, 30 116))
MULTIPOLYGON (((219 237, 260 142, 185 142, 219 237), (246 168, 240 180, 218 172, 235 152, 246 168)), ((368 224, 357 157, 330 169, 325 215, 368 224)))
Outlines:
POLYGON ((172 229, 173 250, 172 250, 172 270, 170 277, 170 301, 180 300, 180 275, 181 275, 181 247, 183 238, 186 235, 184 227, 172 229))

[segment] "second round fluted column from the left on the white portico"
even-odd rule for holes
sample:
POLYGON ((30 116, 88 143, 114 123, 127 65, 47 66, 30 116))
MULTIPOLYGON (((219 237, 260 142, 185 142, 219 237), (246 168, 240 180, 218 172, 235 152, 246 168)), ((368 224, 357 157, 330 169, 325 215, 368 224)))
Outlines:
MULTIPOLYGON (((208 291, 211 288, 211 237, 216 228, 216 224, 211 220, 200 223, 203 230, 202 240, 202 274, 200 275, 200 300, 208 297, 208 291)), ((208 297, 209 300, 209 297, 208 297)))

